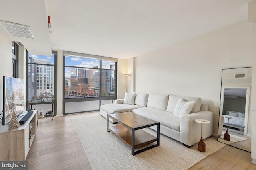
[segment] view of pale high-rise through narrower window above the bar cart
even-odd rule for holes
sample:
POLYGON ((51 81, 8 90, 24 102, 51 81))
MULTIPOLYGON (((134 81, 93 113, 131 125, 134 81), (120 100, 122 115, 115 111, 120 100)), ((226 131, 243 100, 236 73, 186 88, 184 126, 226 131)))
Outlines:
POLYGON ((47 102, 54 98, 54 54, 52 56, 28 53, 28 99, 47 102))

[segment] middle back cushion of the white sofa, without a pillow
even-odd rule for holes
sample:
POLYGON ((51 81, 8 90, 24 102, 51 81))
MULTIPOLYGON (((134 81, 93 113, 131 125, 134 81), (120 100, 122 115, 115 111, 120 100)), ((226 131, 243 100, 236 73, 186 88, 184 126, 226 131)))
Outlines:
POLYGON ((150 93, 148 96, 147 106, 153 107, 162 111, 166 111, 168 98, 169 98, 168 94, 150 93))

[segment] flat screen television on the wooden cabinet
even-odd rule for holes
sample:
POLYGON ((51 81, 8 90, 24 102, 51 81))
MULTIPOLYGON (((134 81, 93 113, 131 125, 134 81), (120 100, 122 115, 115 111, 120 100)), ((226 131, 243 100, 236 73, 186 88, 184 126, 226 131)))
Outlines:
POLYGON ((4 107, 2 125, 9 123, 12 117, 13 109, 16 115, 26 111, 25 105, 25 84, 21 78, 4 76, 4 107))

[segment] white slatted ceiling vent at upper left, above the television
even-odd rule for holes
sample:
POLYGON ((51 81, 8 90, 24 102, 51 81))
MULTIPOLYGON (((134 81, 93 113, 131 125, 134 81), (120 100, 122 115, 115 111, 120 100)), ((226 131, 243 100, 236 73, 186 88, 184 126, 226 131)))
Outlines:
POLYGON ((29 26, 0 21, 0 25, 12 36, 35 39, 29 26))

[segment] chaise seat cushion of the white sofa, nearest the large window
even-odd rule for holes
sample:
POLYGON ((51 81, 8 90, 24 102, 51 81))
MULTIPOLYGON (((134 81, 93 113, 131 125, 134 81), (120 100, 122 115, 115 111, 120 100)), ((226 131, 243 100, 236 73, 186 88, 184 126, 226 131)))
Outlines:
POLYGON ((124 111, 132 111, 133 109, 140 108, 142 106, 139 105, 131 105, 131 104, 104 104, 100 106, 100 109, 108 112, 108 113, 118 113, 124 111))

